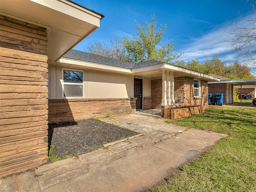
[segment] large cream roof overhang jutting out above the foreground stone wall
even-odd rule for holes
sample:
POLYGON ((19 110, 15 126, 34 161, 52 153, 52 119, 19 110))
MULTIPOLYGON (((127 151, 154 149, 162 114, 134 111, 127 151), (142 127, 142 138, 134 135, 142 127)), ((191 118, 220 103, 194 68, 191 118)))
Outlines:
POLYGON ((46 28, 52 61, 98 29, 104 17, 69 0, 0 0, 0 14, 46 28))

